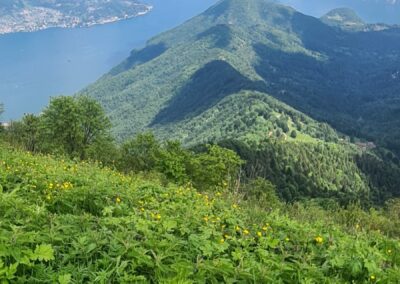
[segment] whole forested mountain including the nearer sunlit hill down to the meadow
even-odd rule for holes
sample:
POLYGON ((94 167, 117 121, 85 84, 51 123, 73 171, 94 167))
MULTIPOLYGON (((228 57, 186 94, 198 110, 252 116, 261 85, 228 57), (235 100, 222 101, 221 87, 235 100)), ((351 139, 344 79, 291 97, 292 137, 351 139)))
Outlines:
POLYGON ((399 194, 399 160, 371 141, 400 152, 399 55, 398 28, 347 30, 270 1, 224 0, 81 94, 102 103, 120 140, 147 130, 185 145, 229 140, 251 149, 248 175, 289 200, 382 202, 399 194))

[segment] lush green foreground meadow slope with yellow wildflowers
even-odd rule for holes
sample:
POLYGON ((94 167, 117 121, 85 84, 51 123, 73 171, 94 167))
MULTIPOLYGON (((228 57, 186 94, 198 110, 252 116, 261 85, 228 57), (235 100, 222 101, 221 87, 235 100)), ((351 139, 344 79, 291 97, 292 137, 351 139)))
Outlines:
POLYGON ((100 164, 1 144, 0 281, 396 283, 400 278, 396 203, 365 213, 311 204, 283 208, 271 201, 243 199, 223 188, 199 192, 155 176, 123 175, 100 164))

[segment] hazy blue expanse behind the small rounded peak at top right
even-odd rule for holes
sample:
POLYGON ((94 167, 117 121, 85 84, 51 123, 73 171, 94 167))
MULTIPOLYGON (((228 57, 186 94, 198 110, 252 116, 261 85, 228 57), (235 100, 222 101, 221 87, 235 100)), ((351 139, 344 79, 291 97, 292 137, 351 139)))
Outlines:
POLYGON ((303 13, 320 17, 328 11, 347 7, 368 23, 400 24, 400 1, 397 0, 277 0, 303 13))

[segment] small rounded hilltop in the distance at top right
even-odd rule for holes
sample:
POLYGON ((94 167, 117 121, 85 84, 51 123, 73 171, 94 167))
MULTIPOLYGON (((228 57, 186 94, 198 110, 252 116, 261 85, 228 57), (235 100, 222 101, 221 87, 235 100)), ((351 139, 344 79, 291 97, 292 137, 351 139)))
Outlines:
POLYGON ((322 16, 321 20, 328 25, 350 30, 359 30, 365 26, 363 19, 350 8, 333 9, 322 16))

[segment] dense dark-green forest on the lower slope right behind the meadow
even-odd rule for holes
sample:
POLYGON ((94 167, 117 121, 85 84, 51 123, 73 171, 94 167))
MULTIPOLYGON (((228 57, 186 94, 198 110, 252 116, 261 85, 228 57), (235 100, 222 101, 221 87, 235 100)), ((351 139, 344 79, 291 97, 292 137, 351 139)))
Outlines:
POLYGON ((348 144, 279 140, 253 145, 225 140, 219 145, 246 161, 247 178, 270 180, 284 200, 325 198, 369 207, 400 196, 400 168, 380 149, 368 152, 348 144))

